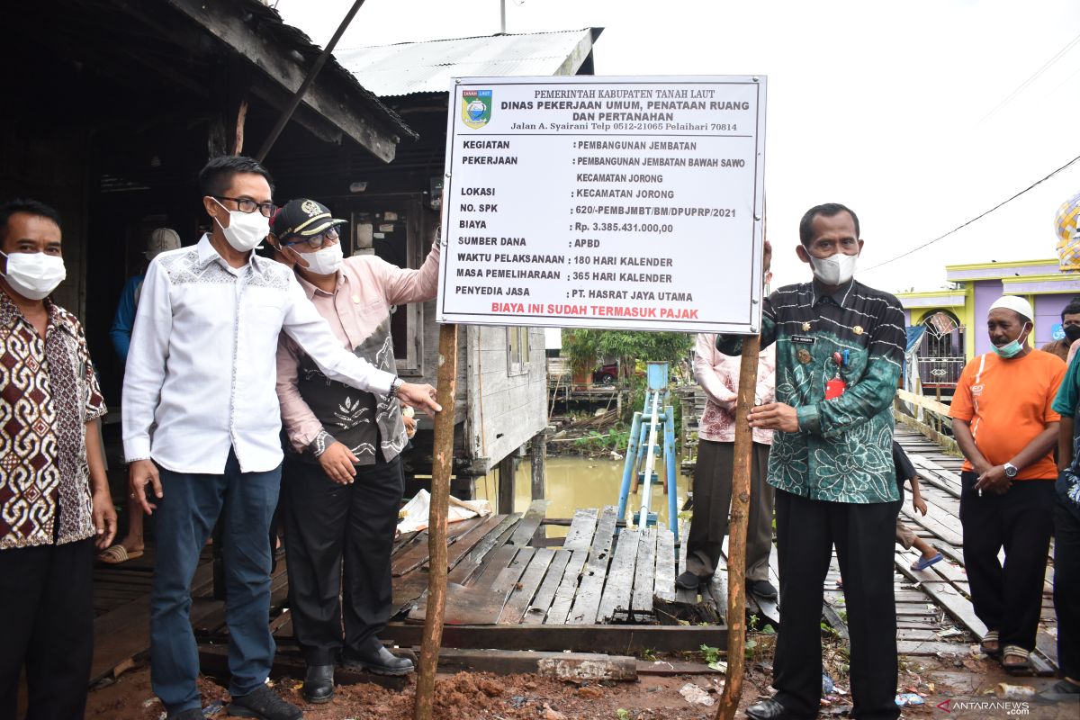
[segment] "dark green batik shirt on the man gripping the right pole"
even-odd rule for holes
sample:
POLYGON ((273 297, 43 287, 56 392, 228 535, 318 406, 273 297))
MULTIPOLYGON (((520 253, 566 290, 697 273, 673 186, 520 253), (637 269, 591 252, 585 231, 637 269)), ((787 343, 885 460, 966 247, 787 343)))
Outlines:
MULTIPOLYGON (((765 301, 761 344, 777 343, 777 402, 795 408, 799 431, 773 435, 768 481, 811 500, 879 503, 900 499, 892 462, 892 399, 906 336, 900 302, 854 280, 833 295, 815 283, 788 285, 765 301), (833 358, 847 351, 847 362, 833 358), (845 381, 825 399, 825 384, 845 381)), ((737 355, 738 336, 719 336, 737 355)))

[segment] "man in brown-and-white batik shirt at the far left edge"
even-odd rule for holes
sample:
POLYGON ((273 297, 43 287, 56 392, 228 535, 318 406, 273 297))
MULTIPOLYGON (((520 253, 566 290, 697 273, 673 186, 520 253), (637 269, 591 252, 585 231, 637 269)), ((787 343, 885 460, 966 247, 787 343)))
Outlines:
POLYGON ((81 718, 94 650, 95 539, 117 513, 97 418, 105 400, 65 277, 60 220, 31 200, 0 205, 0 718, 81 718))

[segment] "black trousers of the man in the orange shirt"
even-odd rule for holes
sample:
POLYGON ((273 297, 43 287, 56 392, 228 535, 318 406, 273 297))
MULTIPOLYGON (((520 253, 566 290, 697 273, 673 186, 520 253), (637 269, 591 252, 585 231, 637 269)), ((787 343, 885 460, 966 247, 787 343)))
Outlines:
POLYGON ((963 565, 975 614, 998 630, 1001 647, 1035 650, 1053 524, 1054 480, 1016 480, 1003 495, 975 491, 960 474, 963 565), (998 560, 1005 551, 1004 566, 998 560))

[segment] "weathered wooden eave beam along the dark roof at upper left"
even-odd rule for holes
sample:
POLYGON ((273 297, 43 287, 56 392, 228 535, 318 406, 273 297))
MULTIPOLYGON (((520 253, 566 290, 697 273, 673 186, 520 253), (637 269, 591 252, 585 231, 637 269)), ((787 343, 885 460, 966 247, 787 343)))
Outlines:
MULTIPOLYGON (((181 14, 194 21, 212 36, 245 57, 261 74, 295 93, 307 77, 307 68, 270 38, 253 30, 242 13, 228 2, 204 0, 166 0, 181 14)), ((347 136, 366 148, 379 160, 394 159, 399 137, 376 125, 372 118, 355 109, 348 93, 332 89, 324 78, 312 83, 303 104, 326 118, 347 136)))

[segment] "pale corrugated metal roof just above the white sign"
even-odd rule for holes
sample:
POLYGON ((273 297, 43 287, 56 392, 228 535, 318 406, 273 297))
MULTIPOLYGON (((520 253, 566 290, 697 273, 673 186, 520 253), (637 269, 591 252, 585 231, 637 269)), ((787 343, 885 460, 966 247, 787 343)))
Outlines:
POLYGON ((339 49, 334 54, 365 87, 380 97, 448 93, 453 78, 573 74, 602 30, 584 28, 405 42, 339 49))

